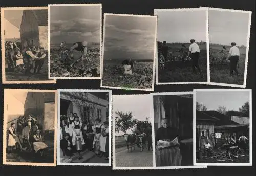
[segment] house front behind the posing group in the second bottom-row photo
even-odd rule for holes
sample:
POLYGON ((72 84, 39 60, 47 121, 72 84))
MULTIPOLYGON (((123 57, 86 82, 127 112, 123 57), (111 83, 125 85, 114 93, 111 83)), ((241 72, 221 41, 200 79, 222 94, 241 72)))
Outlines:
POLYGON ((108 92, 61 92, 60 114, 69 117, 70 112, 77 113, 82 122, 94 124, 96 118, 101 122, 109 120, 108 92))

